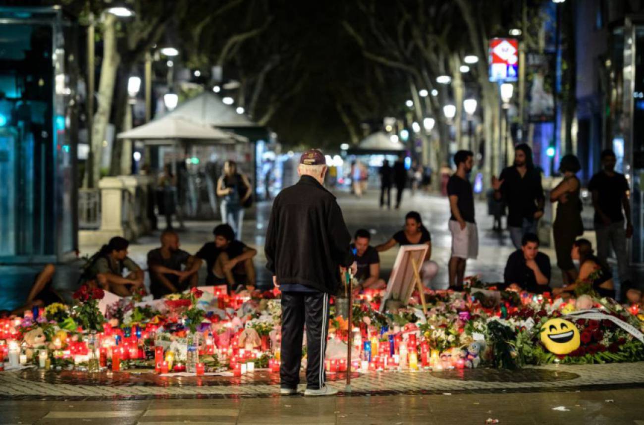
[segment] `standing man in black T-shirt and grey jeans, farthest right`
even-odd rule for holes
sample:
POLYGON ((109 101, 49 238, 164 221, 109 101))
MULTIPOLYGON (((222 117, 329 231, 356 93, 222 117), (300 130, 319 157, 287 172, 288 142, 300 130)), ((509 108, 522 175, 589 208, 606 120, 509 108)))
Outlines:
POLYGON ((630 220, 629 182, 623 174, 615 172, 616 162, 615 153, 611 149, 603 151, 603 170, 592 176, 588 190, 592 193, 592 206, 595 209, 597 257, 607 264, 611 247, 615 251, 620 295, 623 296, 632 287, 626 240, 633 234, 633 224, 630 220))

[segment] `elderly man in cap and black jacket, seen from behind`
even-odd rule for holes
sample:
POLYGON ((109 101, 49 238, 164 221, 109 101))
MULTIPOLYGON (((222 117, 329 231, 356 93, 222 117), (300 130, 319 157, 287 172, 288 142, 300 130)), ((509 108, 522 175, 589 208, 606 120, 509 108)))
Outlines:
POLYGON ((355 269, 351 235, 336 197, 323 187, 327 165, 318 149, 303 153, 299 182, 278 194, 270 212, 265 253, 273 283, 282 292, 280 393, 297 393, 303 328, 307 326, 305 395, 333 395, 325 385, 328 297, 339 267, 355 269))

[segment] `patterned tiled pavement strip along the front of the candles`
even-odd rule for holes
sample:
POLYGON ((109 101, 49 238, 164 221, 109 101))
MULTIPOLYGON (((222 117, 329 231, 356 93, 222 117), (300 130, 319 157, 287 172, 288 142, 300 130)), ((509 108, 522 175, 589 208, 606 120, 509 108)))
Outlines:
MULTIPOLYGON (((111 372, 108 372, 108 374, 111 372)), ((255 372, 247 377, 168 377, 151 383, 119 380, 100 384, 91 375, 79 374, 61 381, 49 372, 0 373, 3 399, 106 399, 106 398, 229 398, 270 397, 279 392, 276 374, 255 372), (272 376, 265 376, 272 375, 272 376)), ((329 383, 345 390, 343 377, 329 383)), ((627 364, 547 365, 518 371, 494 369, 448 372, 370 372, 354 377, 352 393, 346 395, 560 392, 599 388, 644 388, 644 362, 627 364)), ((303 388, 303 385, 301 385, 303 388)))

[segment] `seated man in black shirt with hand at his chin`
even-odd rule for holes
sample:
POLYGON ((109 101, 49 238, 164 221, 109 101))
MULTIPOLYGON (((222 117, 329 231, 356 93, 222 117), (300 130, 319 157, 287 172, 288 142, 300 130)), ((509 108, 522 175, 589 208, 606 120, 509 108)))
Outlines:
POLYGON ((509 289, 527 290, 536 294, 549 291, 550 258, 539 252, 539 238, 526 233, 521 240, 521 249, 507 259, 504 280, 509 289))

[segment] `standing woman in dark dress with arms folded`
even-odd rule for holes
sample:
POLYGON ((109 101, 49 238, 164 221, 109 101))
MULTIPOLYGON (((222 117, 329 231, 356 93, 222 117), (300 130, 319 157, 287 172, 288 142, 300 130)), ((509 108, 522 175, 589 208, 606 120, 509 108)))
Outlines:
POLYGON ((577 278, 571 250, 577 236, 583 234, 582 200, 579 197, 581 183, 576 173, 582 165, 574 155, 565 155, 559 162, 559 171, 564 180, 551 191, 550 202, 557 202, 556 218, 553 223, 554 250, 557 267, 562 270, 564 283, 573 283, 577 278))

